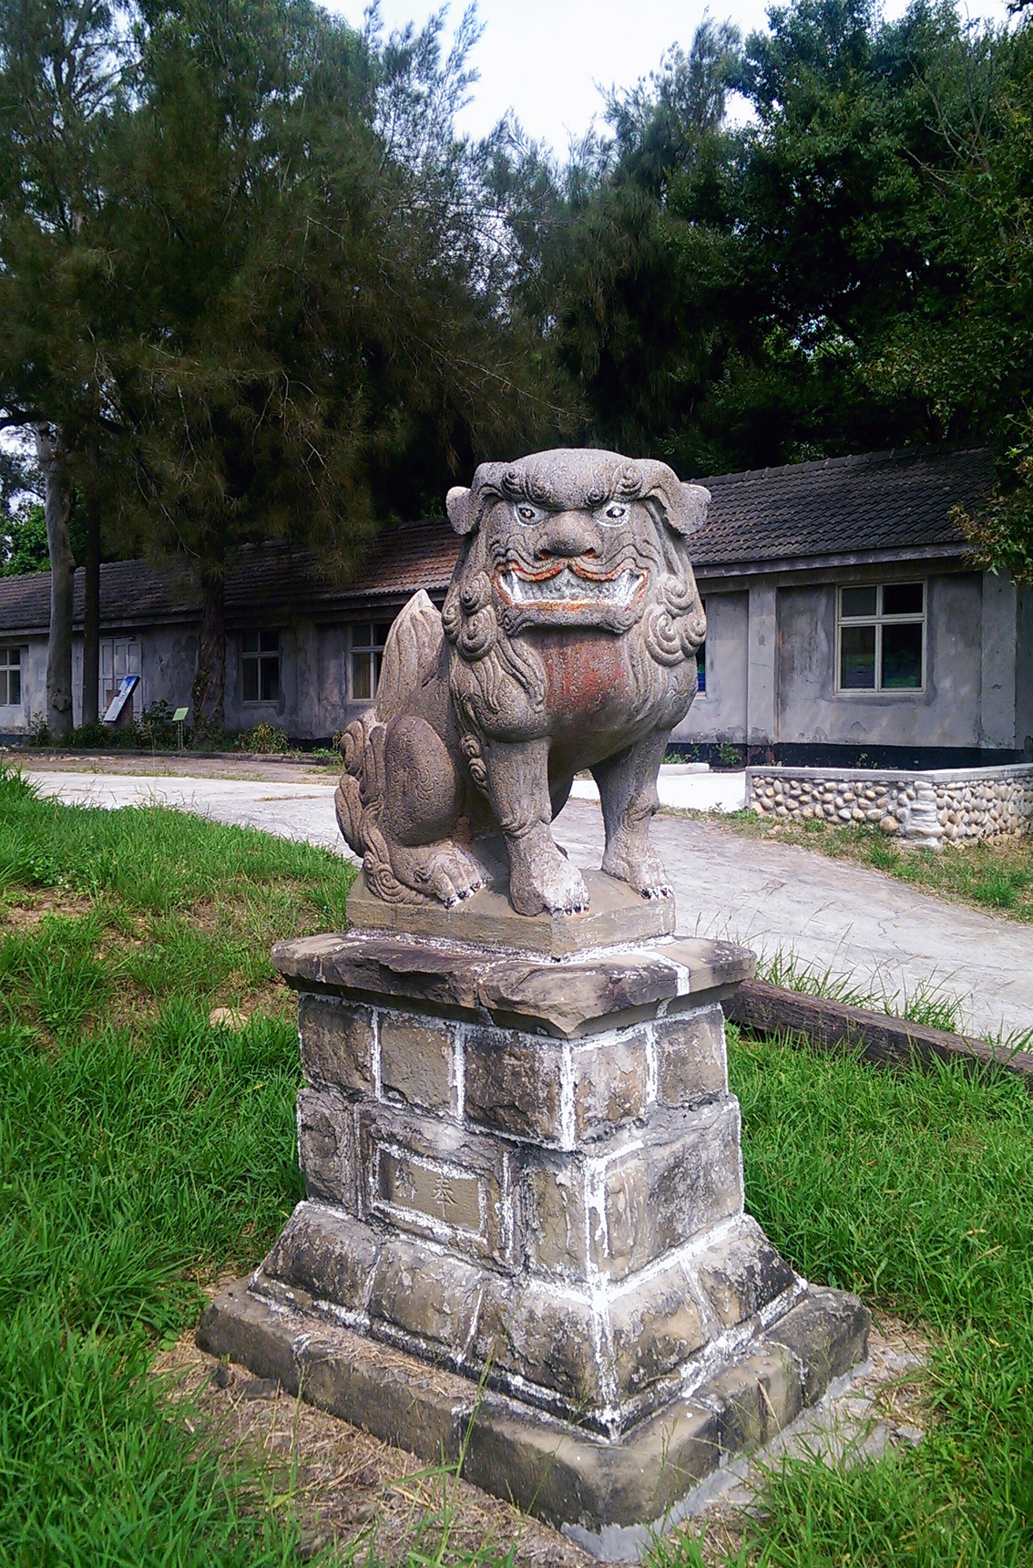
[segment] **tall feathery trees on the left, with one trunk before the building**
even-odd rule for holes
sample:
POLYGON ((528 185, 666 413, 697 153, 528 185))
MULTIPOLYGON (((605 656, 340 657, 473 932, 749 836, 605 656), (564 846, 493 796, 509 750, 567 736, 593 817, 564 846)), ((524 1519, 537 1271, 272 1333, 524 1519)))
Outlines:
POLYGON ((110 547, 185 555, 215 729, 234 546, 292 538, 345 575, 378 519, 553 422, 453 132, 477 27, 447 58, 440 27, 0 5, 0 423, 58 431, 110 547))

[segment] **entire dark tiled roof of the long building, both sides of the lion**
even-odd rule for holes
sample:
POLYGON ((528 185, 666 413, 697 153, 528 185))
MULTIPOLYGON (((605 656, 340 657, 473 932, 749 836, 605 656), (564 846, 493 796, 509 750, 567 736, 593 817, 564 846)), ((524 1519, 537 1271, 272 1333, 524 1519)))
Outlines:
MULTIPOLYGON (((992 483, 989 448, 925 447, 752 469, 701 480, 713 500, 691 539, 705 572, 752 563, 859 552, 958 546, 951 506, 973 506, 992 483)), ((386 528, 346 585, 320 575, 315 558, 287 544, 238 552, 226 580, 230 621, 270 612, 332 610, 426 588, 444 591, 459 541, 444 519, 386 528)), ((100 622, 129 627, 193 619, 199 601, 185 566, 113 561, 100 568, 100 622)), ((45 632, 50 572, 0 577, 0 633, 45 632)), ((83 574, 75 574, 75 624, 83 618, 83 574)))

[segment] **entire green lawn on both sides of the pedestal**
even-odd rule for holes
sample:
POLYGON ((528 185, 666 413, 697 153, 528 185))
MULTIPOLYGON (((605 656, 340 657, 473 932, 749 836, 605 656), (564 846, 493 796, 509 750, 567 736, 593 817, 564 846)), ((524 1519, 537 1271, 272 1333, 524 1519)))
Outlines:
MULTIPOLYGON (((293 1008, 266 953, 340 928, 348 880, 307 845, 64 808, 0 775, 0 1563, 299 1560, 290 1504, 146 1369, 299 1195, 293 1008), (246 1025, 210 1027, 215 1005, 246 1025)), ((732 1041, 730 1073, 774 1242, 936 1344, 920 1447, 773 1477, 737 1560, 1033 1562, 1033 1101, 771 1041, 732 1041)), ((404 1568, 470 1563, 447 1534, 428 1527, 404 1568)), ((368 1537, 324 1560, 387 1562, 368 1537)), ((690 1540, 655 1554, 698 1562, 690 1540)))

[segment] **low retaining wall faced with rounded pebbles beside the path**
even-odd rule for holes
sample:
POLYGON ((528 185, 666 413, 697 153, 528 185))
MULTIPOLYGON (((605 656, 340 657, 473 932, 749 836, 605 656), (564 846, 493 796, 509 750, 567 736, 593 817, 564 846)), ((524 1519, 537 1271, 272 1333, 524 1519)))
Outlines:
POLYGON ((853 826, 928 848, 1014 837, 1033 820, 1033 764, 999 768, 746 768, 746 806, 765 817, 853 826))

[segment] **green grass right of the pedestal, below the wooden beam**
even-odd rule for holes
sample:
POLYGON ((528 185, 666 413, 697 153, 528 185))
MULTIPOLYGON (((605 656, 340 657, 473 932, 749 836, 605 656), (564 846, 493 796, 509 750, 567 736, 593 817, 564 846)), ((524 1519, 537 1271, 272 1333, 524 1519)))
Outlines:
POLYGON ((936 1425, 854 1471, 793 1465, 749 1530, 765 1568, 1033 1562, 1033 1101, 953 1068, 741 1041, 748 1206, 809 1278, 923 1322, 936 1425))

